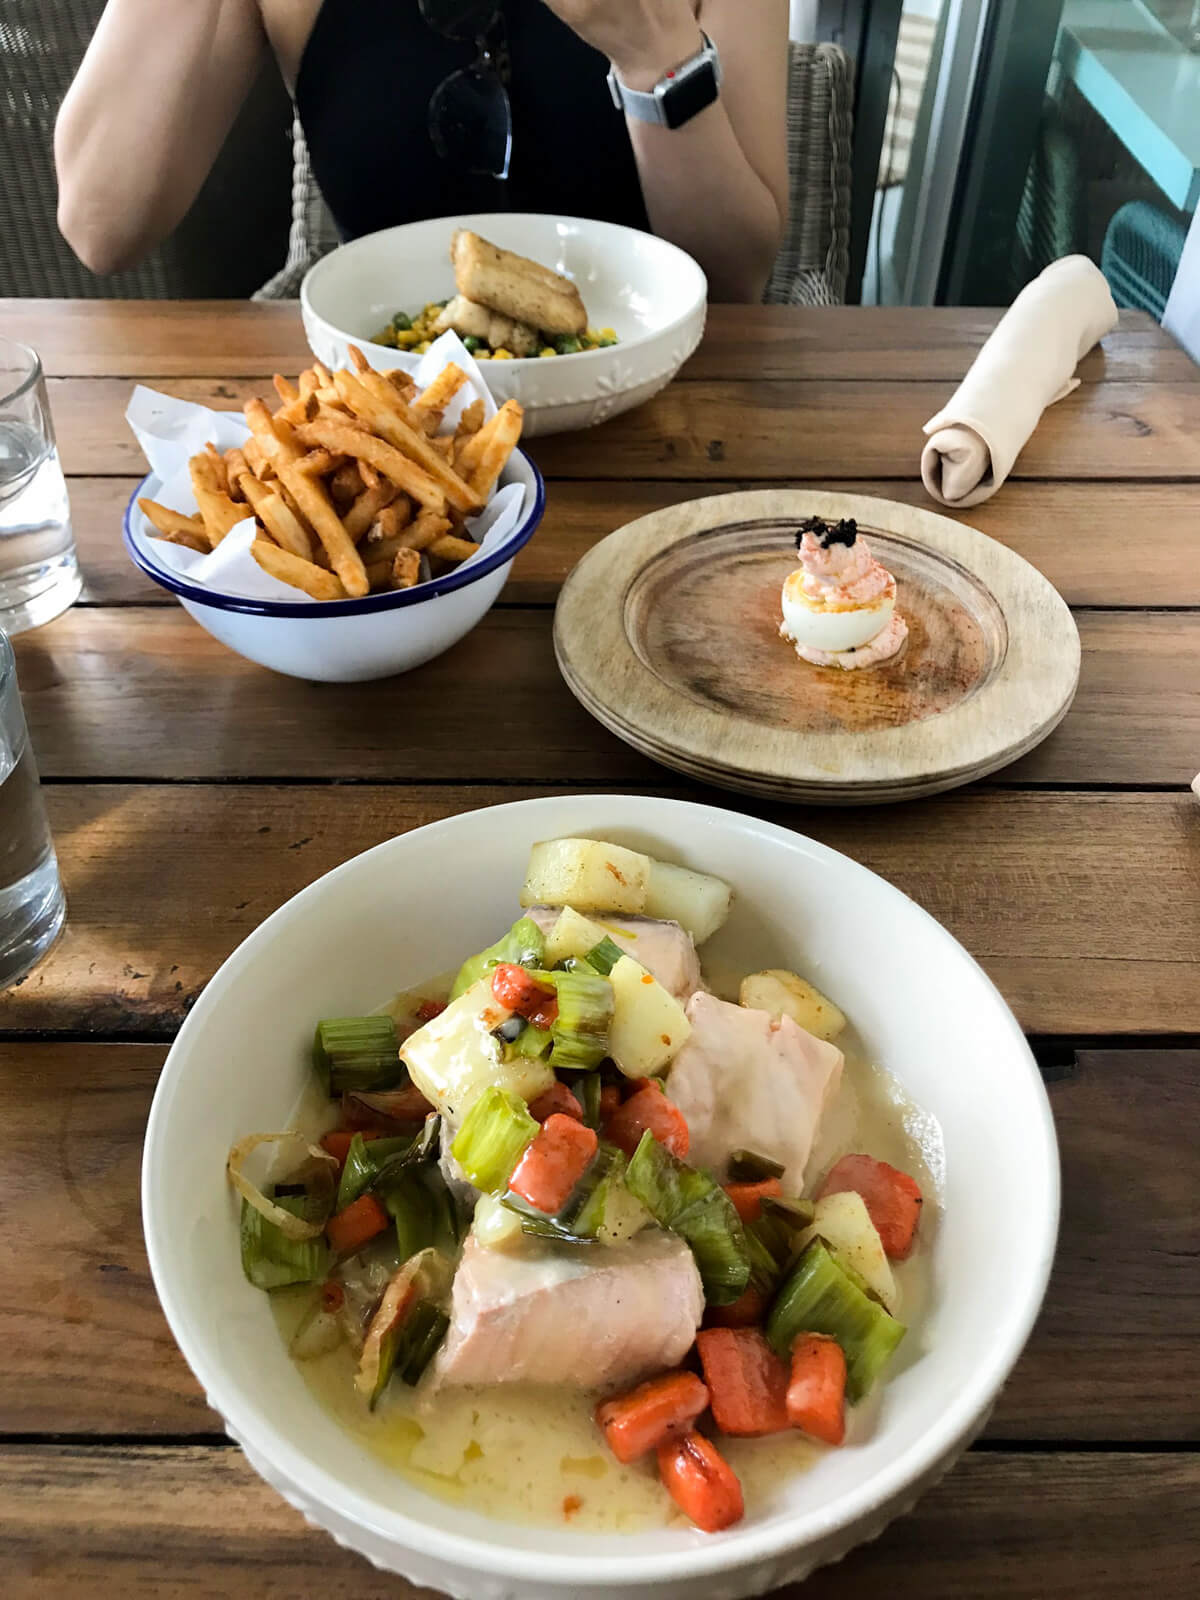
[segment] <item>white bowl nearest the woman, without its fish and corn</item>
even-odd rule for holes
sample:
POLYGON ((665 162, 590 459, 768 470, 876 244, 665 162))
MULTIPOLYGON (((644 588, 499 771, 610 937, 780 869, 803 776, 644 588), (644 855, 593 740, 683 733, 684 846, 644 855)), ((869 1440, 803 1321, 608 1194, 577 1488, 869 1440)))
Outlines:
POLYGON ((357 344, 373 366, 416 366, 371 334, 398 310, 414 314, 454 294, 450 238, 472 229, 579 285, 592 328, 618 344, 579 355, 485 362, 498 405, 520 400, 525 435, 592 427, 658 394, 701 341, 707 282, 696 262, 653 234, 616 222, 531 211, 496 211, 405 222, 342 245, 301 285, 301 315, 314 355, 347 366, 357 344))

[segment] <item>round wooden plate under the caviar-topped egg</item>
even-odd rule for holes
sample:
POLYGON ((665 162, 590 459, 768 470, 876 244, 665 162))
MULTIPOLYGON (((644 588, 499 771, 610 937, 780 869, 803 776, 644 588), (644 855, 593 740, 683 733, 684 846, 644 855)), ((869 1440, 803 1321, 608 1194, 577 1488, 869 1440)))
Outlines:
POLYGON ((1080 645, 1019 555, 915 506, 757 490, 640 517, 566 579, 555 653, 574 696, 627 744, 779 800, 862 805, 970 782, 1062 720, 1080 645), (810 667, 779 637, 802 517, 854 517, 909 622, 880 667, 810 667))

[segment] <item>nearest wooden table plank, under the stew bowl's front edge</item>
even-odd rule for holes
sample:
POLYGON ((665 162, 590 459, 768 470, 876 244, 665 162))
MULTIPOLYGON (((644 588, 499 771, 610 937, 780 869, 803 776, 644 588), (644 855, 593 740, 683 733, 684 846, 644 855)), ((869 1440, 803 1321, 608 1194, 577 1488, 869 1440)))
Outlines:
MULTIPOLYGON (((1192 1600, 1197 1493, 1195 1456, 973 1451, 875 1544, 776 1600, 1192 1600)), ((235 1450, 6 1446, 0 1530, 6 1600, 430 1595, 309 1528, 235 1450)))

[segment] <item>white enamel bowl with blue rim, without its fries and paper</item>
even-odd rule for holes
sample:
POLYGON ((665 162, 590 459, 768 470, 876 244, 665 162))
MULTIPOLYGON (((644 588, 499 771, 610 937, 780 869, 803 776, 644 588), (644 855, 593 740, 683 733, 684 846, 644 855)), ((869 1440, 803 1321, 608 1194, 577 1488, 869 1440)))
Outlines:
POLYGON ((154 558, 150 525, 138 499, 155 499, 158 478, 142 478, 125 507, 125 549, 147 578, 178 595, 184 611, 222 645, 262 667, 314 683, 362 683, 419 667, 464 638, 504 587, 512 560, 533 538, 546 485, 514 450, 501 485, 523 483, 526 512, 494 550, 414 589, 362 600, 248 600, 192 584, 154 558))

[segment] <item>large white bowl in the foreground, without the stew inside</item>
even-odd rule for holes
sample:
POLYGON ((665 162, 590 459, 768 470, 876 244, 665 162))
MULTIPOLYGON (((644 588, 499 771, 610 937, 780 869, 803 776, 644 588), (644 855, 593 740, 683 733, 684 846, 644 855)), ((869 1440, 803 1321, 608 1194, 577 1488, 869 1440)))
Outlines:
POLYGON ((571 795, 394 838, 269 917, 171 1046, 146 1136, 142 1216, 158 1296, 210 1405, 262 1477, 339 1542, 462 1600, 730 1600, 800 1579, 880 1533, 982 1426, 1045 1291, 1058 1152, 1008 1006, 898 890, 800 834, 731 811, 571 795), (811 973, 944 1141, 944 1181, 923 1224, 931 1304, 872 1400, 870 1426, 715 1538, 528 1528, 432 1499, 320 1408, 267 1298, 242 1275, 226 1152, 242 1134, 288 1125, 317 1019, 371 1010, 491 942, 514 917, 530 845, 566 834, 728 878, 734 910, 717 941, 747 962, 811 973))

